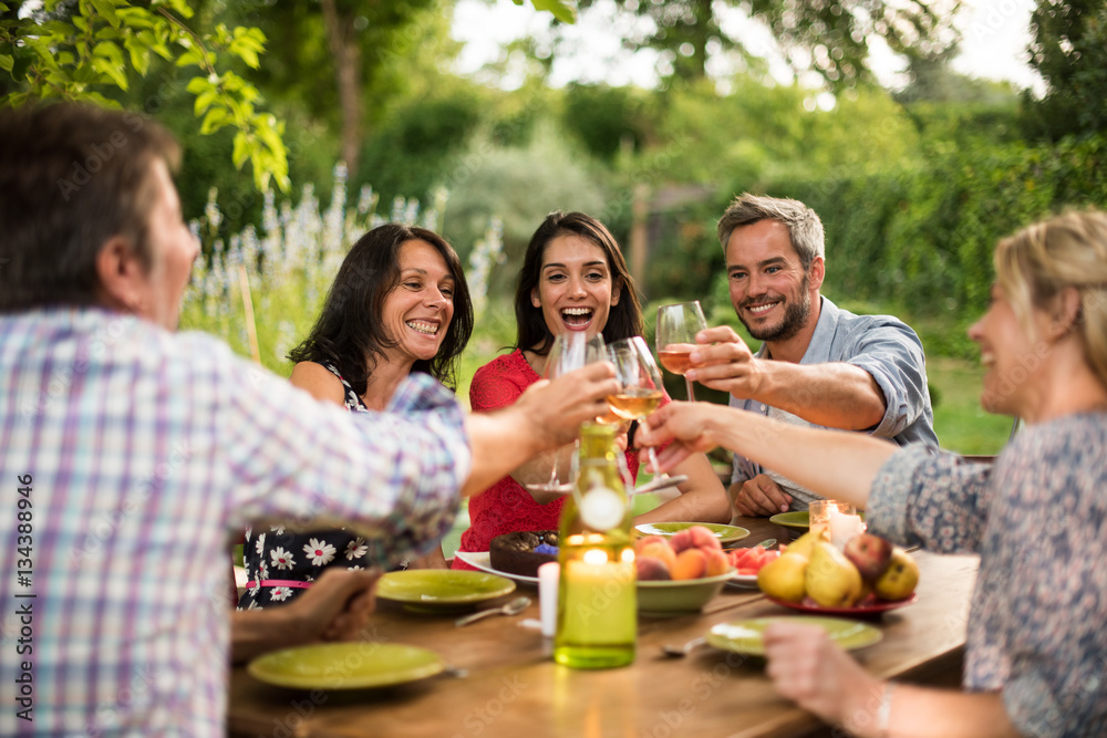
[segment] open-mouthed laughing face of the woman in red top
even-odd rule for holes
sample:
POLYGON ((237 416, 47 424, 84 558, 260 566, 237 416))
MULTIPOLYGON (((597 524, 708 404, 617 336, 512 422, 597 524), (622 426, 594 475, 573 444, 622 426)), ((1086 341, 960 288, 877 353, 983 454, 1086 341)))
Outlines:
POLYGON ((552 239, 542 252, 530 302, 541 309, 554 335, 578 331, 591 336, 608 324, 611 305, 619 304, 619 291, 603 249, 568 233, 552 239))

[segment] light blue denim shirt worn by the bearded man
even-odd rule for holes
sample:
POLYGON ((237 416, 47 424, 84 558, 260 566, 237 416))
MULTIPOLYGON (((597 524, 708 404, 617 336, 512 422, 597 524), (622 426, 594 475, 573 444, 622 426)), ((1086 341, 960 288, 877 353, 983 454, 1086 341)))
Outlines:
MULTIPOLYGON (((900 446, 921 441, 937 447, 934 412, 927 388, 927 357, 919 336, 891 315, 855 315, 825 297, 820 300, 819 322, 799 363, 845 362, 860 366, 877 381, 886 402, 884 417, 876 427, 862 433, 891 438, 900 446)), ((755 355, 761 358, 764 354, 765 345, 762 344, 755 355)), ((755 399, 738 399, 732 395, 731 407, 772 415, 796 425, 815 425, 755 399)), ((819 497, 780 475, 762 469, 744 456, 734 455, 732 484, 753 479, 758 474, 767 474, 790 493, 794 509, 807 509, 807 503, 819 497)))

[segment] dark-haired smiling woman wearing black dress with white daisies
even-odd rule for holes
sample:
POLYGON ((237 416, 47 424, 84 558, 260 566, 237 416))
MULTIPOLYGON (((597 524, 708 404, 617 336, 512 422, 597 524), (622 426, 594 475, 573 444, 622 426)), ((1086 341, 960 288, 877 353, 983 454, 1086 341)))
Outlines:
MULTIPOLYGON (((315 326, 289 354, 296 362, 289 381, 351 413, 384 412, 412 372, 455 386, 457 357, 472 332, 473 306, 454 249, 430 230, 386 224, 346 254, 315 326)), ((248 529, 242 549, 248 582, 239 607, 292 602, 328 568, 362 569, 365 561, 387 560, 385 543, 342 529, 296 533, 283 523, 248 529)), ((435 553, 441 559, 435 549, 426 565, 444 567, 435 553)))

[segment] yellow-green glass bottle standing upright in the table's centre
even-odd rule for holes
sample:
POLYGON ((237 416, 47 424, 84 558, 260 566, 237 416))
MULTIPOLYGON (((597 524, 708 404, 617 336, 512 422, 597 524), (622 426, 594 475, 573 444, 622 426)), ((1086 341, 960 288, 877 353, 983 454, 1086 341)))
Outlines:
POLYGON ((634 542, 614 439, 615 426, 581 428, 576 489, 561 511, 554 661, 577 668, 634 661, 634 542))

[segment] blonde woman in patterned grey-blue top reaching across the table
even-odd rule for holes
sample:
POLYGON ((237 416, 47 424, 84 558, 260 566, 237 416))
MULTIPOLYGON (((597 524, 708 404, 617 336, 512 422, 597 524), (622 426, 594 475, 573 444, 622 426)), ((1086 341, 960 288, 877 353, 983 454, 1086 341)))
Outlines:
MULTIPOLYGON (((765 632, 777 689, 834 732, 1107 736, 1107 214, 1070 212, 995 248, 987 312, 969 329, 984 409, 1025 428, 994 464, 851 433, 680 404, 643 443, 680 439, 662 467, 715 445, 867 508, 872 532, 939 553, 979 553, 963 692, 881 680, 821 628, 765 632)), ((725 376, 720 329, 697 336, 700 381, 725 376)), ((690 374, 691 375, 691 374, 690 374)))

